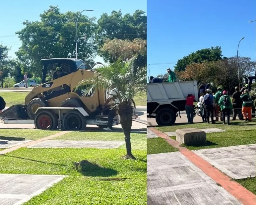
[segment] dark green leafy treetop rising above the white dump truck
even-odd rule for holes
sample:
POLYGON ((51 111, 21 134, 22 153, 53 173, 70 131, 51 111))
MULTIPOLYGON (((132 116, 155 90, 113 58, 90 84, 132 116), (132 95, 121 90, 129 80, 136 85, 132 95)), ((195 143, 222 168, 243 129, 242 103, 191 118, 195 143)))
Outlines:
POLYGON ((184 71, 187 65, 191 63, 203 63, 221 60, 223 57, 220 46, 204 48, 196 52, 192 52, 188 56, 185 56, 177 61, 174 66, 175 71, 184 71))

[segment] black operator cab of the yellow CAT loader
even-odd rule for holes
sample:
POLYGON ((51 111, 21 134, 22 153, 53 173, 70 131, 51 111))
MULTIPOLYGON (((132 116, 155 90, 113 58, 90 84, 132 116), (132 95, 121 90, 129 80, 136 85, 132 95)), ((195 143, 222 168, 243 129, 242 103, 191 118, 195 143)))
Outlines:
MULTIPOLYGON (((42 83, 46 83, 57 78, 66 76, 70 73, 76 72, 77 68, 84 63, 81 59, 75 58, 51 58, 42 59, 43 75, 42 83)), ((87 69, 82 65, 80 69, 87 69)))

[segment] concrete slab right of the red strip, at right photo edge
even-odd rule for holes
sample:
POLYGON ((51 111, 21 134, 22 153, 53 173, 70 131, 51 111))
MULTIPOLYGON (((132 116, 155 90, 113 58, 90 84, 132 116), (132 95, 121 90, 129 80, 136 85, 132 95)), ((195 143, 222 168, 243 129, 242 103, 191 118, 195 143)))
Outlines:
POLYGON ((193 152, 233 179, 255 177, 256 144, 194 150, 193 152))

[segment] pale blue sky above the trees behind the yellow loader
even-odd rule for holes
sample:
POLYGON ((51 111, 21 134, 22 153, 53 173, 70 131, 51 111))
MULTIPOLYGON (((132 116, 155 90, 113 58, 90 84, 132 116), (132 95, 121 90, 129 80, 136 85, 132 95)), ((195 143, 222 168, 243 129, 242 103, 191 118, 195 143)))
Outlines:
MULTIPOLYGON (((102 13, 111 14, 113 10, 122 10, 123 14, 134 13, 135 10, 141 9, 146 11, 146 0, 9 0, 0 3, 0 43, 12 47, 9 55, 15 57, 14 52, 21 46, 21 42, 15 35, 15 32, 24 28, 22 22, 25 20, 39 20, 39 14, 47 10, 50 5, 59 6, 61 12, 82 11, 84 9, 94 10, 91 12, 84 11, 84 15, 99 18, 102 13)), ((95 61, 103 62, 99 56, 95 61)))

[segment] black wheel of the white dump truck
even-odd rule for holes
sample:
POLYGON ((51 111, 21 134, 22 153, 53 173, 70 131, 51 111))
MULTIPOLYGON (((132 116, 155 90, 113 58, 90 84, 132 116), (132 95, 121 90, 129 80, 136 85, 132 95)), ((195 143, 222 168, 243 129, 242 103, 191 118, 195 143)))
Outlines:
POLYGON ((170 108, 162 108, 156 113, 156 123, 158 125, 173 125, 176 121, 176 115, 170 108))

